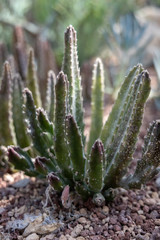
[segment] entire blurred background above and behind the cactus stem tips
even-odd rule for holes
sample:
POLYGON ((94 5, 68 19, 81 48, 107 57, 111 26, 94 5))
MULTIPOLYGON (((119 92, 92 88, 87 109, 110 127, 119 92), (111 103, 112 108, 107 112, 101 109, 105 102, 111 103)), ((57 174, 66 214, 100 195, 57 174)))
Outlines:
MULTIPOLYGON (((160 106, 160 0, 1 0, 0 63, 16 55, 19 45, 32 46, 38 77, 45 78, 50 68, 57 74, 70 24, 78 35, 85 100, 90 99, 92 65, 99 56, 112 99, 127 71, 141 62, 153 76, 152 95, 160 106)), ((23 78, 21 67, 18 71, 23 78)))

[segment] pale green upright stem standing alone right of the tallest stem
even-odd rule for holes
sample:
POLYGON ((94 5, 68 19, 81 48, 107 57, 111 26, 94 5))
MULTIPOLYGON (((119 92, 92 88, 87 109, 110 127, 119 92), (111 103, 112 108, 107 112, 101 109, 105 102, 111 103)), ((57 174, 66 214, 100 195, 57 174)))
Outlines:
POLYGON ((88 141, 88 154, 95 140, 100 137, 103 126, 104 73, 102 61, 99 58, 97 58, 94 65, 92 79, 91 129, 88 141))

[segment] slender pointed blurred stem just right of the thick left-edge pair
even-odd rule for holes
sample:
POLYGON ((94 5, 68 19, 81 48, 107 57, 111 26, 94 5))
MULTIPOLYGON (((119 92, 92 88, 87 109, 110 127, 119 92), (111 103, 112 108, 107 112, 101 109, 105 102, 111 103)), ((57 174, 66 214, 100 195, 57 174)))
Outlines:
POLYGON ((30 91, 33 94, 35 105, 37 107, 40 107, 41 99, 40 99, 40 93, 39 93, 39 87, 38 87, 38 79, 36 76, 33 49, 30 49, 29 51, 26 86, 27 88, 30 89, 30 91))

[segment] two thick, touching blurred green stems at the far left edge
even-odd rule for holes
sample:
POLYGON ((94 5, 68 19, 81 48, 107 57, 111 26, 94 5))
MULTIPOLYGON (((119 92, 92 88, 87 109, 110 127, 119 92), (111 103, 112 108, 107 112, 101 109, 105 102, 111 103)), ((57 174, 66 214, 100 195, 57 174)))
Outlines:
POLYGON ((30 148, 31 145, 23 113, 23 88, 20 75, 13 77, 9 63, 5 62, 0 88, 0 166, 3 167, 7 167, 8 145, 21 148, 30 148))

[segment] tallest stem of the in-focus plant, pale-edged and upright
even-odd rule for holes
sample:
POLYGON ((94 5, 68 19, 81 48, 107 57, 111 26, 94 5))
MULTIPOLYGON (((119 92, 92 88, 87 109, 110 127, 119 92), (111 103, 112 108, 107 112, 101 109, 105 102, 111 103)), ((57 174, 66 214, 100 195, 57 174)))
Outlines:
POLYGON ((65 52, 62 70, 67 75, 69 81, 69 113, 76 120, 84 141, 82 87, 77 54, 77 36, 72 26, 69 26, 65 32, 65 52))

